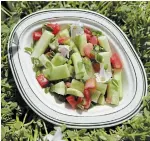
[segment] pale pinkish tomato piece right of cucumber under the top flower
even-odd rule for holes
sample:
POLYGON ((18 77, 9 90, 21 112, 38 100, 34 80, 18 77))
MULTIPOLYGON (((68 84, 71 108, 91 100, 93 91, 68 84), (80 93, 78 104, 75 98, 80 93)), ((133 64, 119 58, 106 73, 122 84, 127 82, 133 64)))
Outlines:
POLYGON ((93 50, 93 45, 91 43, 87 43, 85 46, 84 46, 84 53, 85 53, 85 56, 90 58, 90 59, 93 59, 95 58, 95 55, 92 54, 92 50, 93 50))

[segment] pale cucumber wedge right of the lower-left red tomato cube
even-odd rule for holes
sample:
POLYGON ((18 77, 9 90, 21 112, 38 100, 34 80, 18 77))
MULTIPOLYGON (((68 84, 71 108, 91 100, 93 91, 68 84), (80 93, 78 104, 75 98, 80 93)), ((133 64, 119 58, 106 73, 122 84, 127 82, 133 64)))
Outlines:
POLYGON ((50 87, 51 92, 55 92, 57 94, 65 95, 66 94, 66 85, 64 81, 61 81, 50 87))

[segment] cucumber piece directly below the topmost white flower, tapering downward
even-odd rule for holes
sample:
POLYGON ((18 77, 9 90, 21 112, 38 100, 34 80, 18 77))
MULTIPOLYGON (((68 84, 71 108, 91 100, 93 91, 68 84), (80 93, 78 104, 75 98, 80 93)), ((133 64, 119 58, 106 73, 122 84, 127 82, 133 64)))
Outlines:
POLYGON ((84 46, 87 44, 87 39, 86 39, 86 35, 82 34, 82 35, 78 35, 75 37, 75 44, 78 47, 80 53, 82 56, 84 56, 84 46))

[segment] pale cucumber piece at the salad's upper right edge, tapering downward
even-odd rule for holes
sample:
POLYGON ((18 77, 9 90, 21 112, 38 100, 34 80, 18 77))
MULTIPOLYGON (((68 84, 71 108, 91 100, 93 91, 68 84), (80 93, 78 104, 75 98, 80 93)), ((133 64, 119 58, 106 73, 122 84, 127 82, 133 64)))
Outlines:
POLYGON ((109 42, 108 42, 108 39, 106 36, 100 36, 98 37, 98 41, 99 41, 99 44, 106 50, 110 53, 110 55, 112 54, 111 52, 111 48, 110 48, 110 45, 109 45, 109 42))

